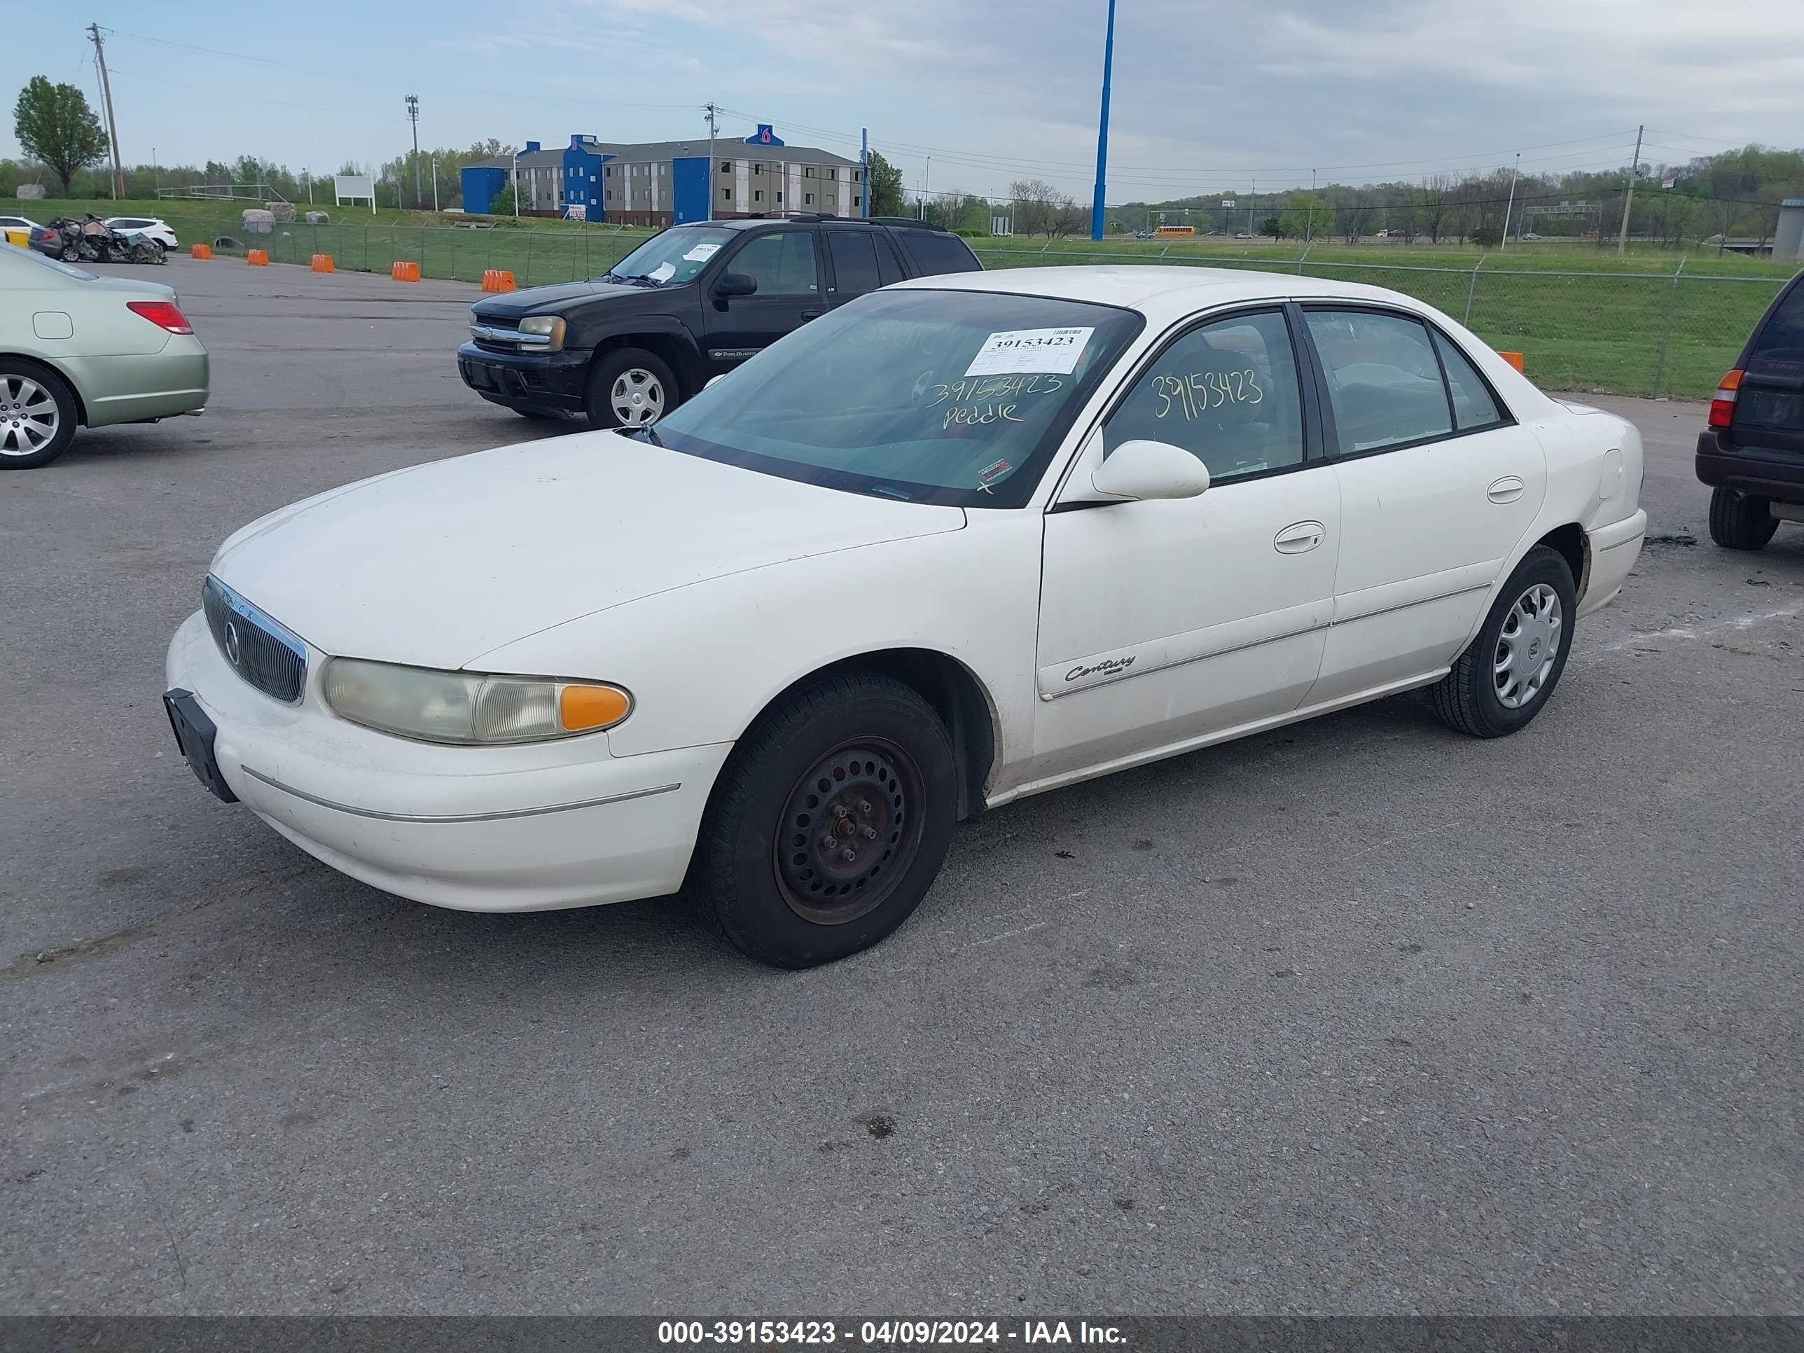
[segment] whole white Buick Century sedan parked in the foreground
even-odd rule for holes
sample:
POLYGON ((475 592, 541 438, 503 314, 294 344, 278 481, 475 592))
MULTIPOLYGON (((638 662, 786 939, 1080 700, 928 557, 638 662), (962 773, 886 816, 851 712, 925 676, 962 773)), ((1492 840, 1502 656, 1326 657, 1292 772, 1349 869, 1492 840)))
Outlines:
POLYGON ((164 700, 204 785, 375 888, 687 884, 805 967, 1026 794, 1418 686, 1515 732, 1640 554, 1640 487, 1631 424, 1389 290, 924 278, 655 428, 253 521, 164 700))

